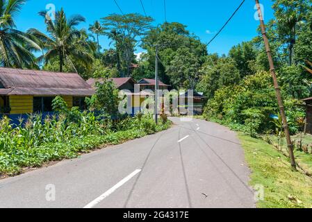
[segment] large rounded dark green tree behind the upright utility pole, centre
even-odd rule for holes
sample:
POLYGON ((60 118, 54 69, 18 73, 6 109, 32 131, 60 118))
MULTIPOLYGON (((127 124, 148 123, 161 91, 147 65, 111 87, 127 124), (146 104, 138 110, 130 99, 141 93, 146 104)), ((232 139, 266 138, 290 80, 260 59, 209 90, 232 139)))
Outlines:
POLYGON ((164 83, 174 88, 195 88, 199 80, 199 68, 207 55, 206 45, 189 33, 186 26, 178 22, 165 22, 152 28, 142 40, 147 51, 140 61, 147 76, 155 70, 155 51, 158 46, 159 76, 164 83))

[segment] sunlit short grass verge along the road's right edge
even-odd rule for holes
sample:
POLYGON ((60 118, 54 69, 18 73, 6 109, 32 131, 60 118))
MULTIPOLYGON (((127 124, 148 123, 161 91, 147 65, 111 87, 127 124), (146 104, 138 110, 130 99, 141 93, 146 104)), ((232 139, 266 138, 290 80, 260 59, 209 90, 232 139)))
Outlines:
POLYGON ((252 171, 250 185, 263 185, 264 200, 260 208, 311 208, 312 179, 291 171, 289 160, 262 139, 238 133, 245 158, 252 171))

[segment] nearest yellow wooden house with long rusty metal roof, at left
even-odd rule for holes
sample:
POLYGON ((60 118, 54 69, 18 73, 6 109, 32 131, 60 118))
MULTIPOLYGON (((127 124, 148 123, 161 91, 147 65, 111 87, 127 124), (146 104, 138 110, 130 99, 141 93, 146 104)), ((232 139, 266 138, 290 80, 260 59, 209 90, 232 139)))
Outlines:
POLYGON ((10 118, 51 112, 56 96, 62 96, 69 108, 81 106, 94 93, 79 74, 0 67, 0 114, 10 118))

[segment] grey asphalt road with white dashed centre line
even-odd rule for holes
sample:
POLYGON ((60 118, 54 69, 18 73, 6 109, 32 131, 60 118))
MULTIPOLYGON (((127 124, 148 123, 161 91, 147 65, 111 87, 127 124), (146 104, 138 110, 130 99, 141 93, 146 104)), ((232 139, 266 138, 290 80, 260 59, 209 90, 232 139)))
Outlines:
POLYGON ((0 180, 0 207, 255 207, 236 133, 171 119, 156 135, 0 180))

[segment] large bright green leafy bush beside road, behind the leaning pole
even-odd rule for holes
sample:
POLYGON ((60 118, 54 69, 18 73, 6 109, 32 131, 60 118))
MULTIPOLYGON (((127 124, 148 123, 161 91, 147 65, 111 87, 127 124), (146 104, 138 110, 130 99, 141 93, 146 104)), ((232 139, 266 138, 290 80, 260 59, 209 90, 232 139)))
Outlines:
MULTIPOLYGON (((297 133, 297 117, 304 116, 304 110, 297 99, 285 100, 290 133, 297 133)), ((261 71, 246 76, 239 85, 218 89, 213 99, 204 108, 206 119, 219 119, 232 128, 243 130, 250 135, 275 130, 272 114, 279 114, 272 78, 261 71), (222 117, 222 118, 219 118, 222 117)))

